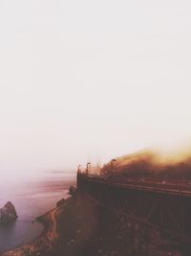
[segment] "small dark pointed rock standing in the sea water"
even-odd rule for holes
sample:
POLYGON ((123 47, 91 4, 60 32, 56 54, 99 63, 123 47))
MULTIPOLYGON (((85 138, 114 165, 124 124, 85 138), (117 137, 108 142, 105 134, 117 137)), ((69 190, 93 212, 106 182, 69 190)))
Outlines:
POLYGON ((0 223, 15 221, 18 218, 16 210, 11 201, 8 201, 3 208, 0 209, 0 223))

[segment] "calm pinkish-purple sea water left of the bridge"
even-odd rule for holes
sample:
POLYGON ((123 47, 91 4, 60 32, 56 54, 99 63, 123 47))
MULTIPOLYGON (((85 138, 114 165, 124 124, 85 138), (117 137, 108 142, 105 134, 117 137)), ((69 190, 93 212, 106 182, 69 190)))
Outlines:
POLYGON ((11 200, 19 218, 0 225, 0 251, 37 238, 43 225, 35 218, 52 209, 57 200, 68 198, 68 188, 74 184, 75 175, 64 173, 44 173, 30 180, 1 184, 0 208, 11 200))

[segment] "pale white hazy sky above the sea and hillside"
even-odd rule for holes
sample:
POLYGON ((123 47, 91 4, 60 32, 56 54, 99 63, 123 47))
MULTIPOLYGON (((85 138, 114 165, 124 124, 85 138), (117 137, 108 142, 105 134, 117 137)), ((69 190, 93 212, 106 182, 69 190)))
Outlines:
POLYGON ((0 0, 0 172, 191 138, 191 4, 0 0))

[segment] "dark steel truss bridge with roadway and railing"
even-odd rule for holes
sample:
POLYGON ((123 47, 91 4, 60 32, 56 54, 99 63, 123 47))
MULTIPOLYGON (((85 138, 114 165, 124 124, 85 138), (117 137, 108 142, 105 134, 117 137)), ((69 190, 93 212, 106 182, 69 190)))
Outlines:
POLYGON ((191 181, 78 173, 77 190, 147 232, 165 233, 191 255, 191 181))

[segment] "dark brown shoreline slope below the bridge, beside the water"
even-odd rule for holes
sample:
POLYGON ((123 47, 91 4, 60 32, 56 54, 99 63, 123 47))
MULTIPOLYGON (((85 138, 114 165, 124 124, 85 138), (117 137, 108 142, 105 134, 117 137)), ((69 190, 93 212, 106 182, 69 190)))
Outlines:
MULTIPOLYGON (((124 252, 134 255, 132 253, 135 249, 138 252, 138 243, 142 243, 142 238, 145 235, 144 230, 137 223, 136 230, 138 232, 134 233, 132 238, 133 222, 130 218, 119 218, 112 211, 108 211, 104 207, 100 208, 90 198, 80 193, 59 200, 55 208, 37 217, 36 221, 44 225, 44 230, 39 238, 0 255, 112 256, 124 255, 124 252), (111 236, 111 234, 113 235, 111 236)), ((150 234, 153 240, 149 239, 148 248, 146 248, 146 244, 142 244, 143 253, 145 249, 148 249, 149 255, 153 256, 182 255, 179 248, 171 247, 172 244, 163 249, 156 244, 159 240, 157 230, 150 230, 150 234)), ((172 241, 166 240, 166 242, 172 241)))

